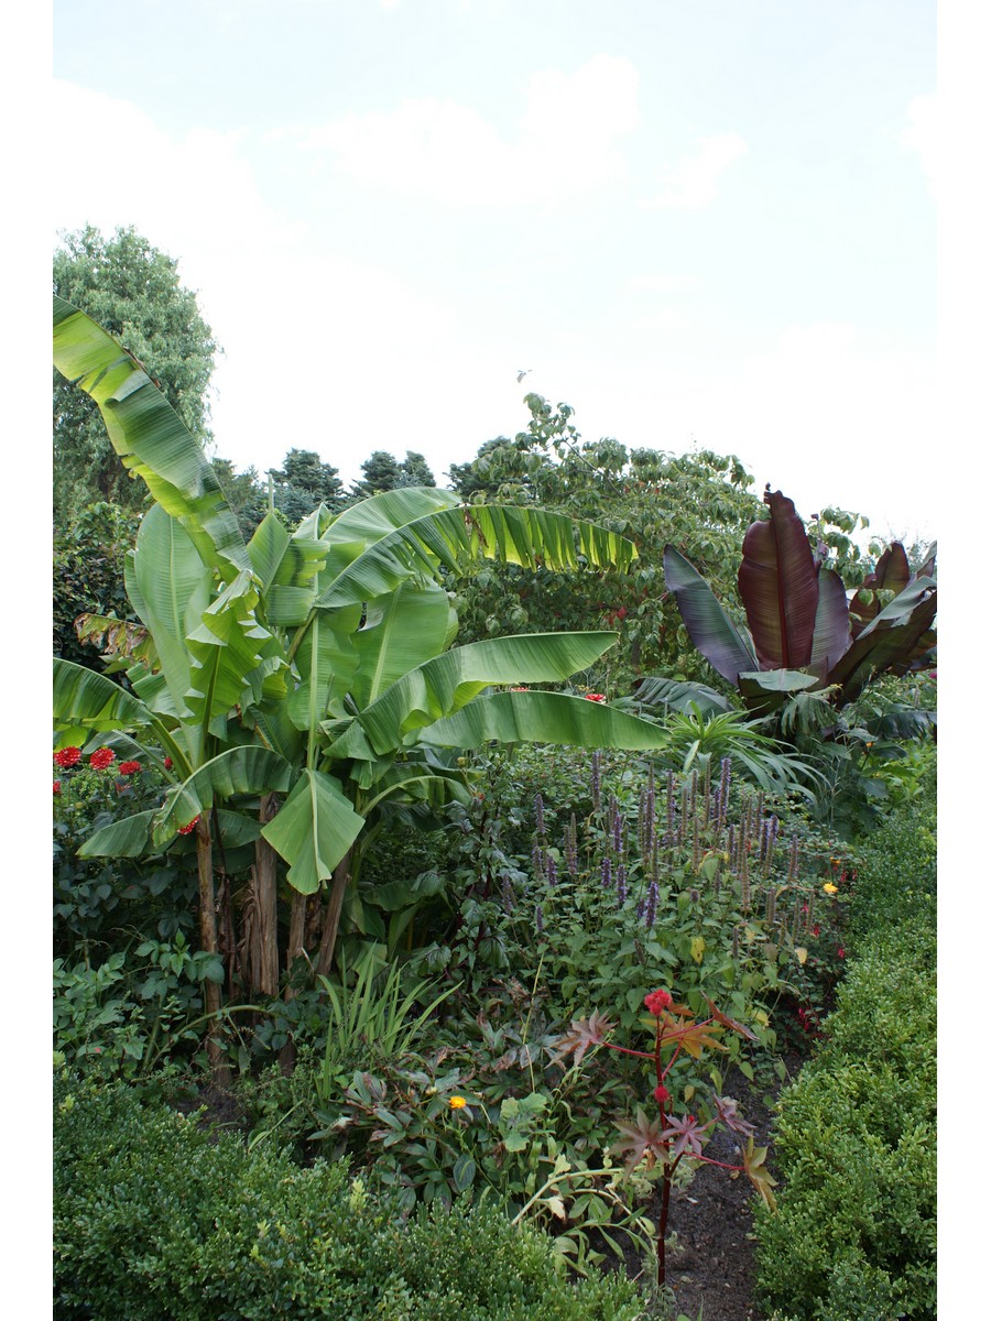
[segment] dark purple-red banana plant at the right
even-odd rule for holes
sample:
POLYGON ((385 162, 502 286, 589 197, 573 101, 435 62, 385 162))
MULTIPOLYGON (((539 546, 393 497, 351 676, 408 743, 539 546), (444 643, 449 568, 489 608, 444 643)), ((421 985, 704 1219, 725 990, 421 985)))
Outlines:
POLYGON ((737 587, 748 627, 737 627, 694 565, 665 548, 665 579, 688 637, 748 707, 769 712, 797 694, 826 690, 854 701, 885 671, 904 674, 936 645, 936 550, 912 575, 893 543, 852 604, 813 552, 794 503, 765 491, 769 517, 744 536, 737 587))

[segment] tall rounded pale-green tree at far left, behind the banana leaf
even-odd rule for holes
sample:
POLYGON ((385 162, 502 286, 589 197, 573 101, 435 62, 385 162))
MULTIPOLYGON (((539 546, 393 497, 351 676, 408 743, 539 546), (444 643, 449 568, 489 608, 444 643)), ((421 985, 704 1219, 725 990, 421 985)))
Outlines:
MULTIPOLYGON (((196 295, 180 284, 176 260, 133 226, 104 238, 87 225, 62 236, 52 283, 57 295, 119 337, 206 445, 213 439, 207 390, 221 349, 196 295)), ((67 523, 71 511, 95 501, 144 507, 144 482, 128 480, 92 400, 54 373, 52 402, 55 523, 67 523)))

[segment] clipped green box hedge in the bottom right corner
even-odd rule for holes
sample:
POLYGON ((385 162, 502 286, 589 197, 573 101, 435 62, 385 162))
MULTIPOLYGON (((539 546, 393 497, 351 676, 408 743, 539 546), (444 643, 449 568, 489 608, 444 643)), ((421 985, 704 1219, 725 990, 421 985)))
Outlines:
POLYGON ((785 1173, 761 1215, 768 1310, 936 1316, 936 934, 917 918, 851 962, 822 1050, 780 1102, 785 1173))

